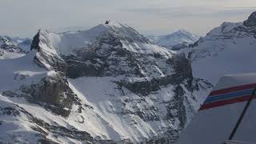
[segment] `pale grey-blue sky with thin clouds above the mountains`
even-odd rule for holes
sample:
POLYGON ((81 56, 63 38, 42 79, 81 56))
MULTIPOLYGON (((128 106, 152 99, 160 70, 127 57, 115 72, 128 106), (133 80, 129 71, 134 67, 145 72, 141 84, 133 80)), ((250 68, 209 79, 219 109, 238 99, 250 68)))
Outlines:
POLYGON ((1 0, 0 35, 32 37, 38 29, 90 28, 125 22, 142 34, 178 29, 204 35, 222 22, 242 22, 255 0, 1 0))

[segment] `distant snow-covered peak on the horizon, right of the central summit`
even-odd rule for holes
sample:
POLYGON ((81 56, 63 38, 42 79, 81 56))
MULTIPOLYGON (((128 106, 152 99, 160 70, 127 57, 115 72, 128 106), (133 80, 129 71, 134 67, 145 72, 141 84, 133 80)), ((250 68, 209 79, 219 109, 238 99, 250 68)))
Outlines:
POLYGON ((180 50, 197 42, 200 38, 196 34, 192 34, 186 30, 178 30, 172 34, 162 36, 148 36, 158 46, 165 46, 172 50, 180 50))

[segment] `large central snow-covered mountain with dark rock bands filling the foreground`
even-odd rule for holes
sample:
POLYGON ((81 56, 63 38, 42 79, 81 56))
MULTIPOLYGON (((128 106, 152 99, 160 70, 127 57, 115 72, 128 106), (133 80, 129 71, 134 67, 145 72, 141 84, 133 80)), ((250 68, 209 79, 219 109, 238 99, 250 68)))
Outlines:
POLYGON ((0 60, 0 142, 170 143, 212 87, 184 54, 106 22, 39 30, 31 51, 0 60))

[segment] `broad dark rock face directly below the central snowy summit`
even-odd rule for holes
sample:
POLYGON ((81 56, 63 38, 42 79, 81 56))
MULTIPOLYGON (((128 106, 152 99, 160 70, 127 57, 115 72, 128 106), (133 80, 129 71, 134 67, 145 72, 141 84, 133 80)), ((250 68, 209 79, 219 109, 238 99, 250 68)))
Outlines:
POLYGON ((98 38, 98 42, 76 53, 76 55, 68 55, 64 58, 68 66, 67 75, 70 78, 142 75, 138 62, 133 59, 134 53, 123 49, 122 42, 114 34, 103 34, 98 38))

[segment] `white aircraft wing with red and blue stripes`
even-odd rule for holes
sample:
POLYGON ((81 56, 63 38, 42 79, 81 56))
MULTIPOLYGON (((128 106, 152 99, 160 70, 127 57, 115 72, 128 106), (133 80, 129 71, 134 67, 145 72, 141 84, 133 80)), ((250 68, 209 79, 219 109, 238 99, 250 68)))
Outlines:
MULTIPOLYGON (((175 144, 223 143, 255 88, 256 74, 231 74, 220 78, 175 144)), ((246 110, 234 140, 256 142, 256 101, 253 100, 246 110)))

